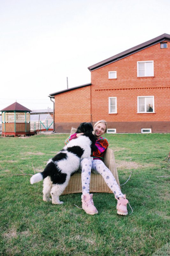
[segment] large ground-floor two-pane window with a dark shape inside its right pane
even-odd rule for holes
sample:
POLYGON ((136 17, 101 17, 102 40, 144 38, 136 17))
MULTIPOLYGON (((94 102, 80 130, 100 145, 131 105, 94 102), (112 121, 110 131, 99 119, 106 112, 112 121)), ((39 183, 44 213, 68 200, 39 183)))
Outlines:
POLYGON ((137 97, 137 113, 153 113, 154 112, 154 96, 138 96, 137 97))

